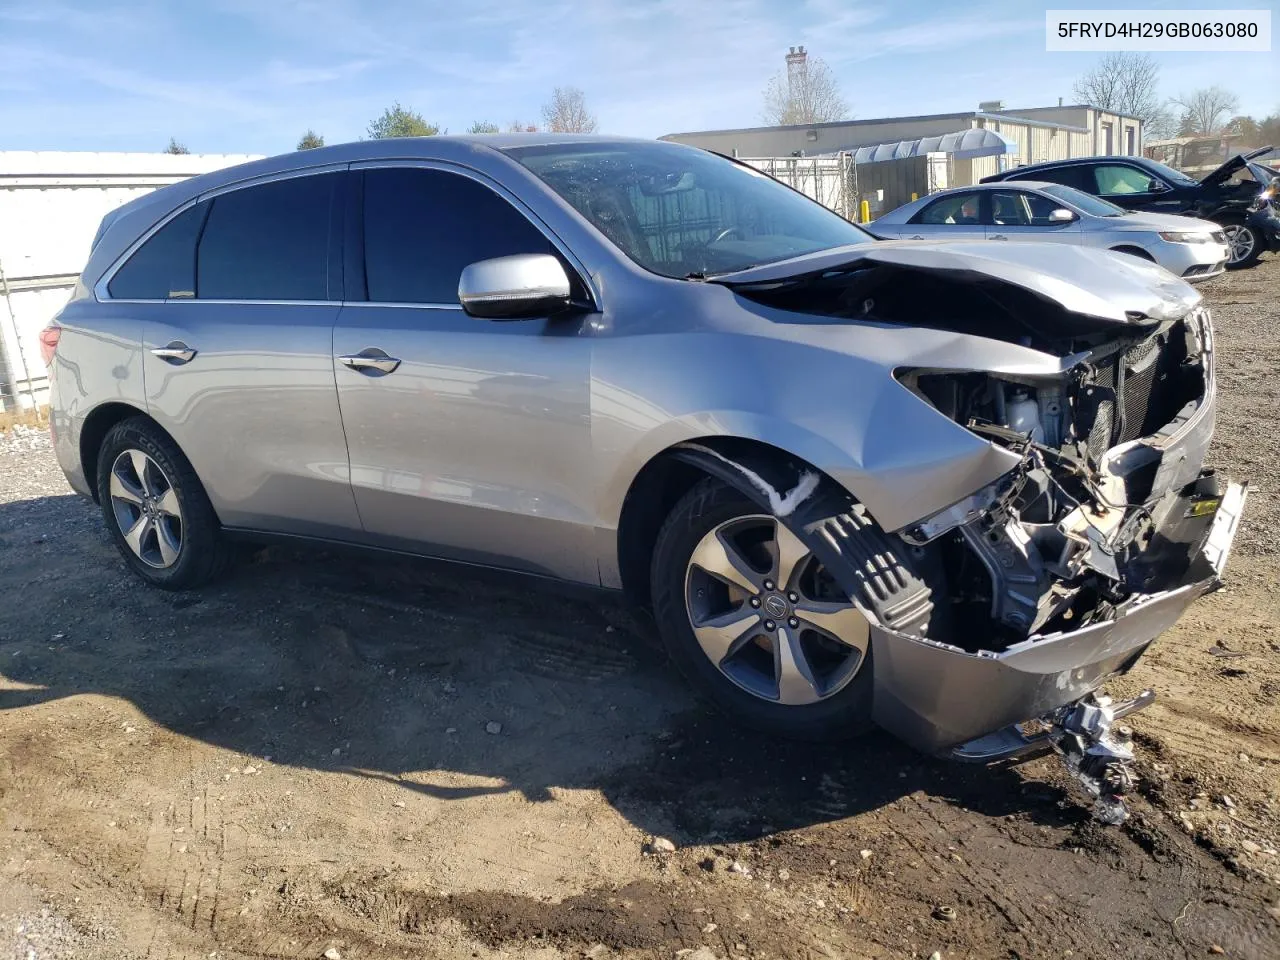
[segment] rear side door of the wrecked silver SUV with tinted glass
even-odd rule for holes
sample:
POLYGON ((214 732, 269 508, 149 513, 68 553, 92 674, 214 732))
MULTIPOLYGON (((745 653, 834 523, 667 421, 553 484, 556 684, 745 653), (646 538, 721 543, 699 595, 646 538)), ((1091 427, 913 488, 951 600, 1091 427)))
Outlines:
POLYGON ((227 526, 360 531, 332 358, 343 177, 303 172, 205 197, 109 283, 113 297, 151 301, 148 412, 227 526))

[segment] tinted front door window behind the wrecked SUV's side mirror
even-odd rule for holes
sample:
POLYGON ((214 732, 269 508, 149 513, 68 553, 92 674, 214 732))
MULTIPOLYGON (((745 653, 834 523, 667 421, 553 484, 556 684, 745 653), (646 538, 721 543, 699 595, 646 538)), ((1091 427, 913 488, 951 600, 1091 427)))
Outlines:
POLYGON ((550 252, 550 242, 518 210, 468 177, 412 168, 365 172, 371 301, 457 303, 468 264, 550 252))

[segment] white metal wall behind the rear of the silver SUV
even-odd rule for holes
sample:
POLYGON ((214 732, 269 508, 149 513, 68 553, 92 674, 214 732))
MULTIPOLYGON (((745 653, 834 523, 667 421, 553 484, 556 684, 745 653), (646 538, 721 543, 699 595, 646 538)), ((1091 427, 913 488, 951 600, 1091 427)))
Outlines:
POLYGON ((46 402, 37 337, 70 296, 105 214, 156 187, 256 159, 0 151, 0 410, 46 402))

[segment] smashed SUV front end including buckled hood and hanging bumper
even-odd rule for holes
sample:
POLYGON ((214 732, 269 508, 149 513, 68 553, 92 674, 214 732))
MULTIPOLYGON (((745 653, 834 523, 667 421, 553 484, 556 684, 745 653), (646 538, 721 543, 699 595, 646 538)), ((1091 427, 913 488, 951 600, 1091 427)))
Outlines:
POLYGON ((756 271, 735 289, 782 310, 961 335, 963 364, 896 365, 893 376, 1014 468, 874 540, 859 504, 801 511, 794 526, 872 622, 881 726, 965 760, 1057 749, 1115 822, 1132 783, 1116 721, 1151 698, 1111 704, 1097 690, 1220 584, 1247 490, 1203 468, 1215 376, 1199 297, 1124 257, 1079 253, 1062 283, 1037 269, 1048 256, 883 244, 805 274, 756 271), (989 369, 974 366, 973 337, 1053 362, 993 349, 989 369))

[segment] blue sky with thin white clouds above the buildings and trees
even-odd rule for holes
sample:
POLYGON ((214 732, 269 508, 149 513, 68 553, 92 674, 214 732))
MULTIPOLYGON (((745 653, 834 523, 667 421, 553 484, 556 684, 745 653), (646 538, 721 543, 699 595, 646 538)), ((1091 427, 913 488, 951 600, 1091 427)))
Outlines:
MULTIPOLYGON (((1101 54, 1046 52, 1044 9, 1082 6, 1106 4, 0 0, 0 150, 155 151, 175 137, 192 152, 279 154, 307 128, 357 140, 396 101, 461 133, 538 122, 557 86, 585 91, 604 133, 753 127, 801 44, 856 118, 1048 106, 1071 102, 1101 54)), ((1217 83, 1242 113, 1280 111, 1280 45, 1153 56, 1167 96, 1217 83)))

